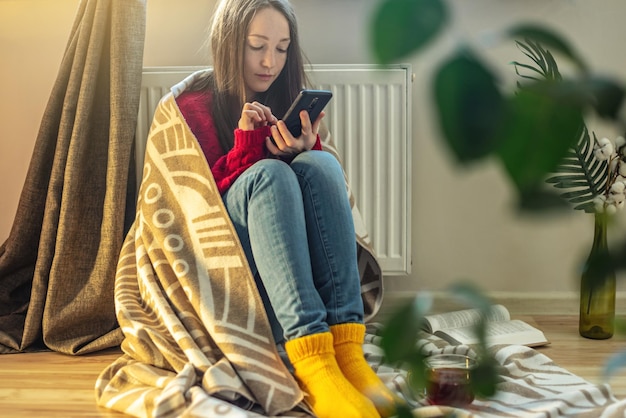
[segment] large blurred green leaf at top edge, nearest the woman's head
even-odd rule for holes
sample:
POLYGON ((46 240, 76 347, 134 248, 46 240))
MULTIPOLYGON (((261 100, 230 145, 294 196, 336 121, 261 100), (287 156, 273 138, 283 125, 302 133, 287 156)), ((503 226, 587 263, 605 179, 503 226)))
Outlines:
POLYGON ((447 21, 442 0, 385 0, 371 24, 374 57, 382 64, 406 57, 431 41, 447 21))

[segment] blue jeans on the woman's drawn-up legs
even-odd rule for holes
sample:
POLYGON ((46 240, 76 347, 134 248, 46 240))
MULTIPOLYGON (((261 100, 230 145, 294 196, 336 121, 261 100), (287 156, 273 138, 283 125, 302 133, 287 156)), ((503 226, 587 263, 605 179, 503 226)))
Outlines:
POLYGON ((352 212, 331 154, 261 160, 223 199, 277 343, 363 322, 352 212))

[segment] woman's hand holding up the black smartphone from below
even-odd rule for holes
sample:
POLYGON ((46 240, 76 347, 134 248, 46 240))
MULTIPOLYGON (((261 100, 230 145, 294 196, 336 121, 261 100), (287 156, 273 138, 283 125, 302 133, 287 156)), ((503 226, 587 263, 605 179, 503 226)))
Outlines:
POLYGON ((317 141, 317 132, 325 113, 321 112, 315 122, 311 123, 309 113, 306 110, 300 112, 300 122, 302 123, 302 134, 299 138, 294 138, 287 129, 287 125, 279 120, 270 129, 272 138, 267 138, 265 143, 267 149, 279 157, 287 157, 308 151, 317 141), (274 142, 272 142, 272 139, 274 142))

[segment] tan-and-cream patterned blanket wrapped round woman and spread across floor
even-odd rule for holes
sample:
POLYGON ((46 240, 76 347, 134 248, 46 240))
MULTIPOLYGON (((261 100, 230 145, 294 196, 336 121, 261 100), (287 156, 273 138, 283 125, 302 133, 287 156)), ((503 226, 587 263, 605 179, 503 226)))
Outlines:
MULTIPOLYGON (((137 215, 120 254, 115 304, 124 354, 96 382, 100 406, 137 417, 309 416, 269 323, 245 256, 198 142, 175 97, 158 106, 149 134, 137 215)), ((327 131, 324 149, 336 155, 327 131)), ((350 193, 349 188, 347 189, 350 193)), ((371 319, 382 301, 381 271, 350 195, 357 229, 362 297, 371 319)), ((416 416, 451 411, 427 406, 407 385, 407 371, 383 363, 378 326, 368 325, 368 362, 415 408, 416 416)), ((428 353, 460 352, 424 336, 428 353)), ((536 350, 496 346, 497 394, 458 417, 624 417, 626 401, 536 350)))

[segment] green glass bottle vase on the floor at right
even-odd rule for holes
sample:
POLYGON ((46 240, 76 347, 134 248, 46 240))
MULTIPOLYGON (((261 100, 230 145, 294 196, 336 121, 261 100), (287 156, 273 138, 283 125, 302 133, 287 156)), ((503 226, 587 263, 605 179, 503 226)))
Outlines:
POLYGON ((595 214, 593 245, 580 280, 579 332, 585 338, 613 336, 615 322, 615 269, 607 244, 607 218, 595 214))

